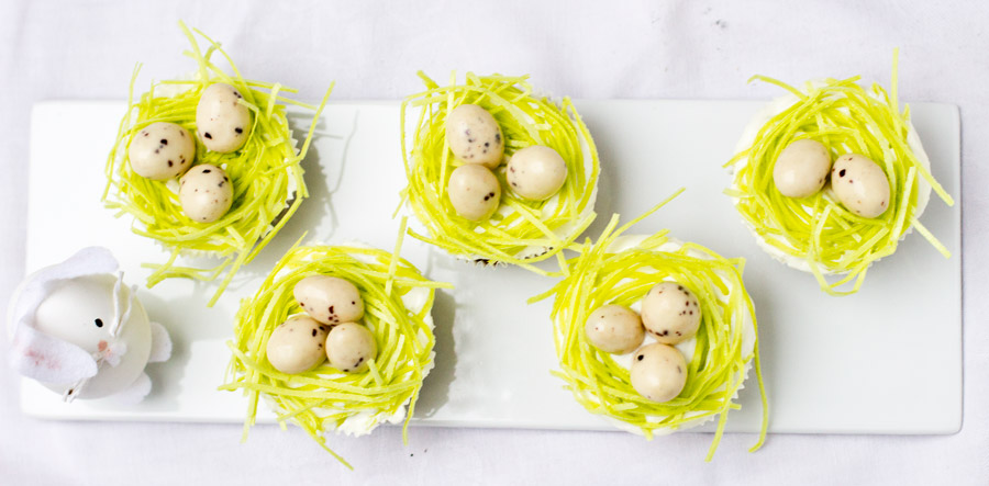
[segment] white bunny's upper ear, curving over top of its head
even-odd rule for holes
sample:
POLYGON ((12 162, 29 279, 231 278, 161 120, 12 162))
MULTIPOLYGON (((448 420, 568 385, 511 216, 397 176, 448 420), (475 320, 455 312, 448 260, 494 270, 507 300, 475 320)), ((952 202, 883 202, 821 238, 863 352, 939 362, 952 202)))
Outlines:
POLYGON ((79 250, 62 263, 45 267, 29 275, 11 298, 8 325, 11 336, 18 329, 30 327, 34 309, 48 296, 55 283, 84 275, 113 273, 119 267, 113 253, 103 247, 88 247, 79 250), (22 326, 29 325, 29 326, 22 326))

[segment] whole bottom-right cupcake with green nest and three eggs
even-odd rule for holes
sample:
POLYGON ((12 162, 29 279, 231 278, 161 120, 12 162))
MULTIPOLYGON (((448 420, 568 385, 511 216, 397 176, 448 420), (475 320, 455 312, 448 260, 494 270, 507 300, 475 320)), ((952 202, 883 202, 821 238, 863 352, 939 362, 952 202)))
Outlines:
POLYGON ((649 213, 618 229, 615 215, 597 241, 565 262, 566 276, 533 298, 553 297, 559 360, 553 374, 589 412, 647 439, 718 418, 710 461, 755 366, 763 399, 758 449, 768 409, 744 260, 667 230, 623 235, 649 213))

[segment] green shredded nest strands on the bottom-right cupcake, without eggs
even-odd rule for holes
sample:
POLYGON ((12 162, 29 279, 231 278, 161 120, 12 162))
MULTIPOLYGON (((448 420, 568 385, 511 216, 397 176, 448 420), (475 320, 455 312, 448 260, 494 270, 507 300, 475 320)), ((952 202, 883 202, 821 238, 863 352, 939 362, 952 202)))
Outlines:
POLYGON ((755 451, 766 438, 768 405, 759 369, 758 338, 751 354, 743 354, 742 350, 746 320, 751 319, 753 332, 757 331, 755 308, 742 281, 744 260, 725 259, 691 242, 675 251, 658 250, 669 241, 668 230, 645 238, 633 249, 610 249, 625 230, 673 197, 618 229, 619 216, 614 215, 597 242, 588 240, 580 248, 580 256, 565 262, 566 276, 530 301, 554 297, 552 317, 560 370, 553 374, 566 382, 588 411, 635 427, 647 439, 656 431, 674 431, 718 416, 707 456, 710 461, 724 432, 729 410, 738 408, 734 397, 752 364, 763 403, 759 439, 751 449, 755 451), (700 252, 705 258, 688 252, 700 252), (584 328, 596 308, 607 304, 630 306, 664 280, 690 289, 700 302, 703 317, 684 391, 673 400, 658 404, 635 392, 629 370, 590 344, 584 328))

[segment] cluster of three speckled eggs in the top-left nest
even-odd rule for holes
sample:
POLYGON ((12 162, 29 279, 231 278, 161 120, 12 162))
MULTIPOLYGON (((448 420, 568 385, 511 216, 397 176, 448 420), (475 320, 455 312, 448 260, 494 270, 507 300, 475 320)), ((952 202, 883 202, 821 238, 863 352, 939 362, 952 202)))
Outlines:
MULTIPOLYGON (((214 83, 202 91, 196 106, 196 126, 208 150, 226 154, 247 142, 251 111, 240 103, 236 88, 214 83)), ((212 223, 233 204, 230 177, 220 167, 192 167, 196 142, 188 131, 170 122, 155 122, 134 135, 127 147, 131 168, 138 176, 164 181, 181 177, 179 203, 189 218, 212 223), (192 167, 190 169, 190 167, 192 167)))

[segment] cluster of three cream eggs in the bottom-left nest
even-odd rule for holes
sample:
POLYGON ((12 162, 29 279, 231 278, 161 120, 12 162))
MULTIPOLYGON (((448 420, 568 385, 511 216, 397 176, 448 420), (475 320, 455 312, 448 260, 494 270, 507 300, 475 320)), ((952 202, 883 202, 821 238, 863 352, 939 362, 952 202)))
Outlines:
POLYGON ((275 328, 265 351, 276 370, 298 374, 323 361, 346 372, 367 369, 378 353, 371 331, 358 324, 364 299, 357 287, 336 276, 311 275, 292 289, 305 315, 296 315, 275 328))

